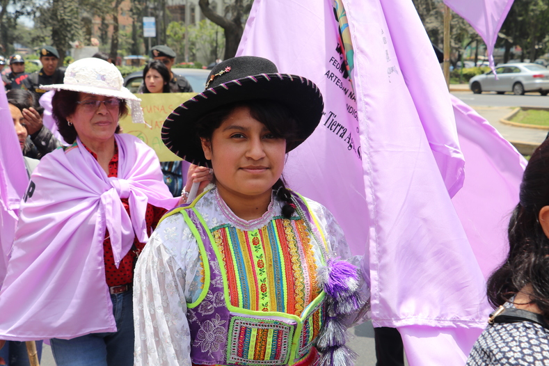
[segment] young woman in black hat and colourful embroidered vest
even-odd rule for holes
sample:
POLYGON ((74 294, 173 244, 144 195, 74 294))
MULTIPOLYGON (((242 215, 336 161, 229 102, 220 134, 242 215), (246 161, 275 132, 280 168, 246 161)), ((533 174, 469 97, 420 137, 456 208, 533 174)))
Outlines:
POLYGON ((323 107, 308 79, 242 56, 166 119, 166 146, 212 168, 215 188, 167 214, 136 264, 136 365, 351 365, 360 259, 281 177, 323 107))

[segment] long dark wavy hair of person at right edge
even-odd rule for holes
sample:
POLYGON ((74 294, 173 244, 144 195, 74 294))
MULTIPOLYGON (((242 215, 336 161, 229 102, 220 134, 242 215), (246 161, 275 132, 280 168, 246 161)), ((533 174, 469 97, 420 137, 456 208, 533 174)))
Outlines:
POLYGON ((509 221, 509 254, 488 280, 488 301, 497 307, 532 285, 532 303, 549 317, 549 239, 539 210, 549 205, 549 141, 537 148, 524 171, 520 200, 509 221))

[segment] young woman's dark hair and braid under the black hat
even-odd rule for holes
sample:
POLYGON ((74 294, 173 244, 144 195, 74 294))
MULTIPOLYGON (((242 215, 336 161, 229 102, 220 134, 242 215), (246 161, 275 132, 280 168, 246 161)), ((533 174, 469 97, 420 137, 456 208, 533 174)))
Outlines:
MULTIPOLYGON (((271 100, 253 100, 238 102, 221 106, 205 114, 197 122, 198 138, 205 138, 211 141, 214 131, 221 126, 221 123, 240 106, 246 106, 250 109, 250 116, 255 120, 262 122, 267 129, 277 138, 286 140, 286 152, 298 143, 296 130, 299 125, 292 115, 292 112, 286 106, 271 100)), ((301 141, 299 141, 301 142, 301 141)), ((292 201, 292 195, 286 189, 284 178, 280 177, 273 185, 278 199, 285 202, 283 206, 283 215, 290 218, 295 212, 295 206, 292 201)))

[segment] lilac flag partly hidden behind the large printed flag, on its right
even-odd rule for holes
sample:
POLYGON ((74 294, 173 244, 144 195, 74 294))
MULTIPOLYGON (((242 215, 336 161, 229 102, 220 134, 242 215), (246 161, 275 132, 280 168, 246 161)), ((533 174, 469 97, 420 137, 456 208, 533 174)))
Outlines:
MULTIPOLYGON (((507 225, 518 203, 526 160, 470 106, 450 97, 459 144, 466 159, 466 180, 452 202, 480 269, 488 278, 507 255, 507 225)), ((447 348, 433 347, 433 337, 437 337, 438 344, 456 342, 464 351, 463 355, 456 355, 463 365, 468 355, 466 350, 477 338, 474 330, 463 332, 459 328, 404 326, 399 327, 399 332, 411 365, 427 365, 422 362, 426 354, 431 360, 429 365, 448 363, 447 348)))

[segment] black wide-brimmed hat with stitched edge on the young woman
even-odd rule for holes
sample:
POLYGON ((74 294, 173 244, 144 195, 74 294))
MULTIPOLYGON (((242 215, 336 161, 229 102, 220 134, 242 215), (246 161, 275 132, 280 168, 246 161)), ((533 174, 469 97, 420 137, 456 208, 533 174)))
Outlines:
POLYGON ((214 66, 206 89, 178 106, 164 121, 162 141, 171 152, 193 164, 210 166, 197 134, 196 122, 206 113, 235 102, 271 100, 285 105, 298 123, 297 140, 305 141, 320 122, 324 102, 312 81, 279 74, 266 58, 240 56, 214 66))

